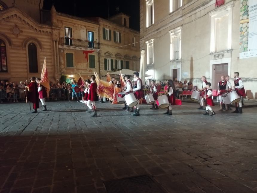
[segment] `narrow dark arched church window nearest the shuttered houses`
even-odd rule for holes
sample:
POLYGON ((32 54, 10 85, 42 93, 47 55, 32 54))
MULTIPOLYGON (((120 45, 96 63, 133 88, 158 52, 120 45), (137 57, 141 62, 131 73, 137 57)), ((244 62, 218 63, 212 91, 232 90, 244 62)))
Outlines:
POLYGON ((29 56, 29 71, 30 73, 37 73, 37 51, 36 45, 30 43, 28 45, 28 56, 29 56))

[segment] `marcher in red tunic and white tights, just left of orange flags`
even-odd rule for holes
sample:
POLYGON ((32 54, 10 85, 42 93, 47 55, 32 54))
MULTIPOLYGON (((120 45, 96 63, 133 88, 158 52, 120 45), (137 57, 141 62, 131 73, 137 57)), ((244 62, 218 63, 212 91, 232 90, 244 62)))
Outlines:
POLYGON ((89 110, 87 112, 92 112, 93 109, 93 114, 91 115, 91 117, 96 117, 97 116, 97 110, 96 110, 96 104, 95 101, 98 101, 98 97, 97 97, 97 84, 95 83, 95 75, 92 75, 90 80, 91 80, 91 84, 89 86, 89 90, 88 90, 88 108, 89 110))

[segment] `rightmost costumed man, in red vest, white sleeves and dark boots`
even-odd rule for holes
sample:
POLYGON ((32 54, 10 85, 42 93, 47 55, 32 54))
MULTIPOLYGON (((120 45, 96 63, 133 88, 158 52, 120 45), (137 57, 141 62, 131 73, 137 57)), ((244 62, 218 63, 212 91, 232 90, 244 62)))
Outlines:
POLYGON ((232 86, 232 89, 236 91, 236 93, 240 96, 241 100, 238 103, 235 103, 235 111, 233 111, 232 113, 243 113, 242 100, 243 100, 243 97, 246 96, 244 91, 244 83, 243 83, 243 80, 239 78, 239 72, 234 72, 234 78, 235 78, 234 80, 235 86, 232 86))

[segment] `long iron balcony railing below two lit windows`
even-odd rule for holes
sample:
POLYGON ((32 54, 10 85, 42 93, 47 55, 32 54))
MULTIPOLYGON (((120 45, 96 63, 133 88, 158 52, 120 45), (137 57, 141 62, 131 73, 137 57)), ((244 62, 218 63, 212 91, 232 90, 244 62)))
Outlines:
POLYGON ((99 49, 98 42, 90 42, 85 39, 75 39, 71 37, 61 37, 61 45, 75 46, 80 48, 99 49))

